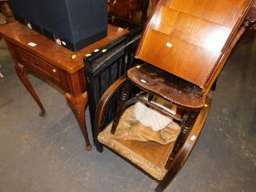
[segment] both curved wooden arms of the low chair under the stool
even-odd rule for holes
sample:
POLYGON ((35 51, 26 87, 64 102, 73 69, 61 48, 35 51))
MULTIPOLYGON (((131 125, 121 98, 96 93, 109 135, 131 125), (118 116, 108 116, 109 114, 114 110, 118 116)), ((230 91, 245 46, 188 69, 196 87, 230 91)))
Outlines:
MULTIPOLYGON (((116 80, 111 85, 111 87, 109 87, 109 89, 105 91, 104 94, 102 95, 96 111, 95 126, 94 126, 94 129, 95 129, 94 132, 96 136, 98 136, 98 134, 101 133, 102 131, 102 122, 103 122, 104 112, 106 110, 108 101, 111 100, 112 96, 116 91, 119 91, 121 89, 121 87, 126 82, 126 80, 127 80, 126 76, 123 76, 119 80, 116 80)), ((190 155, 193 147, 195 146, 197 142, 197 138, 206 120, 210 103, 211 103, 211 98, 208 96, 206 104, 202 108, 202 110, 199 112, 196 123, 193 125, 191 132, 188 134, 185 144, 183 144, 183 146, 177 151, 176 155, 173 158, 173 161, 166 166, 166 168, 168 169, 168 172, 165 175, 165 177, 161 181, 159 181, 159 185, 155 188, 155 191, 157 192, 163 191, 187 161, 187 158, 190 155)), ((102 147, 103 144, 97 141, 95 145, 97 147, 98 152, 101 153, 103 151, 103 147, 102 147)))

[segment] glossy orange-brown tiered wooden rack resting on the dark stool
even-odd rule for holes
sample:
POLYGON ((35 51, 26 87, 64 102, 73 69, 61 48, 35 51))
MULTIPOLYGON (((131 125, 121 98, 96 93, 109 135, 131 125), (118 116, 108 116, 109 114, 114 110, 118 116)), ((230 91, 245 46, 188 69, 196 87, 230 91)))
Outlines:
POLYGON ((205 89, 252 3, 161 0, 136 57, 205 89))

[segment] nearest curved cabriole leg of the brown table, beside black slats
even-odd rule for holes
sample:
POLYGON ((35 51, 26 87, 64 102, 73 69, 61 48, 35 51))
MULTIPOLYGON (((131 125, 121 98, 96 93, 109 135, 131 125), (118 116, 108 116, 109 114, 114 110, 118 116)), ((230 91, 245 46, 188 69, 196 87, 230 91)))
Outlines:
POLYGON ((88 104, 88 95, 87 92, 84 92, 80 95, 74 96, 69 93, 66 93, 66 99, 69 102, 70 108, 74 112, 77 121, 80 125, 80 130, 85 138, 85 149, 87 151, 91 150, 91 144, 88 138, 86 122, 85 122, 85 109, 88 104))

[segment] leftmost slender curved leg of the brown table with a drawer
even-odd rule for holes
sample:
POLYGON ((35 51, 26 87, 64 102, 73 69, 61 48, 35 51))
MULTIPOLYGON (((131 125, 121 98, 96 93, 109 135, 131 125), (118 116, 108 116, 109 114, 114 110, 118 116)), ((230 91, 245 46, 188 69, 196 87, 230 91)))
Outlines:
POLYGON ((23 82, 23 84, 25 85, 27 90, 30 92, 30 94, 32 95, 34 100, 37 102, 37 105, 39 106, 39 108, 41 110, 40 116, 44 116, 45 113, 46 113, 45 108, 44 108, 42 102, 39 100, 36 91, 33 89, 30 81, 27 78, 27 69, 26 69, 26 67, 23 66, 20 63, 16 63, 15 68, 16 68, 16 72, 17 72, 18 77, 23 82))

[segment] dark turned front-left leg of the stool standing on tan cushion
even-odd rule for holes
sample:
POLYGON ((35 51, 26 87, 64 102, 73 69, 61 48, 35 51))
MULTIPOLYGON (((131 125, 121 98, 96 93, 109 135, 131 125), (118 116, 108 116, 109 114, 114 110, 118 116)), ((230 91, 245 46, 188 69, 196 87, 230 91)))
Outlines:
POLYGON ((120 98, 120 101, 118 102, 118 107, 117 107, 115 117, 112 122, 111 133, 115 133, 117 124, 119 123, 119 120, 123 114, 123 111, 125 108, 125 102, 128 100, 130 91, 131 91, 131 84, 129 81, 126 81, 123 87, 123 91, 121 92, 121 98, 120 98))

